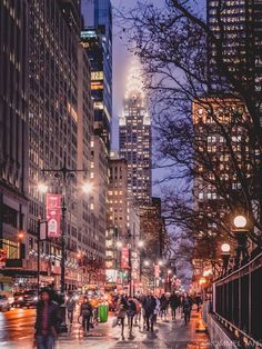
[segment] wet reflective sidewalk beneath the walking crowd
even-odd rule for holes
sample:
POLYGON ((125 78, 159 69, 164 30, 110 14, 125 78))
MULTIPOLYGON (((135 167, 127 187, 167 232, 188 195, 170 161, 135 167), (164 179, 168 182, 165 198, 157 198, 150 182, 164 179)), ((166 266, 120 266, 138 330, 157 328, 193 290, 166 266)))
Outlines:
MULTIPOLYGON (((127 321, 125 321, 127 322, 127 321)), ((201 313, 192 310, 191 321, 184 325, 181 313, 177 320, 158 319, 154 332, 143 331, 139 326, 134 326, 130 337, 128 326, 125 326, 125 339, 121 339, 121 328, 112 328, 112 316, 108 322, 99 323, 90 330, 88 337, 83 337, 81 325, 74 322, 70 333, 64 333, 58 341, 58 349, 78 349, 88 347, 90 349, 206 349, 210 348, 209 337, 203 332, 201 326, 201 313), (70 336, 69 336, 70 335, 70 336)))

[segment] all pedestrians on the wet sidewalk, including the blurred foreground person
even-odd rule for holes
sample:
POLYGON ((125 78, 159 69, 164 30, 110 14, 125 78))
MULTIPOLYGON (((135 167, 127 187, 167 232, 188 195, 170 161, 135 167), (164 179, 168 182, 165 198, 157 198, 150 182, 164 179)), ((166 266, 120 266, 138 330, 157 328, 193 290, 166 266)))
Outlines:
MULTIPOLYGON (((178 313, 184 318, 184 323, 190 321, 193 302, 196 305, 196 310, 200 310, 202 303, 201 297, 198 295, 192 299, 189 295, 177 295, 175 292, 161 297, 154 296, 152 292, 148 295, 139 295, 137 297, 127 297, 125 295, 117 295, 115 302, 115 326, 121 327, 121 337, 124 339, 125 318, 128 320, 129 335, 132 336, 133 325, 139 325, 142 330, 154 331, 154 325, 160 319, 167 320, 168 315, 171 315, 172 320, 177 319, 178 313)), ((61 329, 61 322, 64 316, 61 313, 62 300, 50 289, 42 289, 40 300, 37 307, 36 319, 36 337, 34 345, 39 349, 53 349, 56 340, 61 329)), ((71 295, 67 302, 68 323, 73 323, 77 302, 71 295)), ((81 325, 83 336, 87 336, 90 327, 94 322, 94 312, 88 297, 83 297, 80 306, 81 325)))

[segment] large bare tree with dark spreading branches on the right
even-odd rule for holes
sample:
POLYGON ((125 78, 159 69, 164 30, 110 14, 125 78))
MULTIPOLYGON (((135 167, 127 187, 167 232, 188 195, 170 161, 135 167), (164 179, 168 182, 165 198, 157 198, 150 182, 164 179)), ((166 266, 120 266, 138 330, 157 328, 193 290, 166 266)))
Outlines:
POLYGON ((261 96, 254 92, 254 61, 246 67, 242 59, 242 38, 236 38, 240 46, 225 60, 224 1, 219 1, 216 11, 219 34, 190 3, 168 0, 162 8, 140 3, 121 14, 151 96, 158 166, 171 170, 163 181, 183 179, 188 190, 201 183, 216 196, 216 207, 210 200, 203 211, 185 193, 182 198, 175 192, 165 198, 165 213, 191 232, 202 229, 208 237, 213 227, 222 237, 231 233, 232 216, 242 211, 256 228, 250 238, 261 246, 261 96), (211 47, 215 54, 209 59, 211 47), (193 117, 192 106, 202 109, 204 118, 193 117), (222 141, 219 149, 208 142, 214 136, 222 141))

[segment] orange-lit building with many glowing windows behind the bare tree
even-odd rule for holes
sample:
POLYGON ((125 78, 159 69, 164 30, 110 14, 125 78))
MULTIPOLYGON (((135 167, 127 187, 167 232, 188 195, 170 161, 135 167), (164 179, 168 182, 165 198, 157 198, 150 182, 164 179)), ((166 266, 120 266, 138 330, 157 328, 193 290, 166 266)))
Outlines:
POLYGON ((205 260, 215 260, 220 258, 222 242, 230 242, 232 247, 235 245, 226 232, 232 220, 229 213, 245 207, 240 178, 249 178, 256 160, 255 154, 250 153, 245 128, 250 120, 240 99, 195 100, 192 113, 199 137, 195 166, 200 173, 194 179, 193 195, 195 209, 202 217, 195 233, 195 258, 202 256, 205 260))

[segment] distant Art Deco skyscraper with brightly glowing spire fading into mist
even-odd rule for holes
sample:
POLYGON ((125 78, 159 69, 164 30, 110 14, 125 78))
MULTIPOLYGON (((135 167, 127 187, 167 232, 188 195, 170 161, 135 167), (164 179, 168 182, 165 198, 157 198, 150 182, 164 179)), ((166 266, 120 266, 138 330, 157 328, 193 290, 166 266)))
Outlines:
POLYGON ((140 70, 131 68, 119 118, 120 157, 128 162, 128 187, 139 203, 151 200, 151 120, 140 70))

